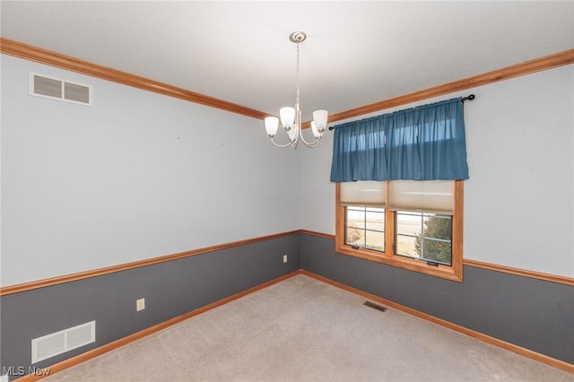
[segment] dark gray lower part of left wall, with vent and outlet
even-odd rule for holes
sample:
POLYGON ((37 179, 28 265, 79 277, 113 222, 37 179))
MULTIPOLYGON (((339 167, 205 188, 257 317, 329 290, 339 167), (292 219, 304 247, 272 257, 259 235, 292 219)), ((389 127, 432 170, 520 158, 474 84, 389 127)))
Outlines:
POLYGON ((33 338, 96 321, 95 343, 33 365, 46 368, 299 268, 293 234, 2 296, 0 375, 28 372, 33 338), (146 307, 136 312, 140 298, 146 307))

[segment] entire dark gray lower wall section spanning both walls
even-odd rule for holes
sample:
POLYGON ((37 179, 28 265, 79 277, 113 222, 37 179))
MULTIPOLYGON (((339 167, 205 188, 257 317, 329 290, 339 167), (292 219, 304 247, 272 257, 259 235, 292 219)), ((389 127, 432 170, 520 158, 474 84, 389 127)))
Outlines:
MULTIPOLYGON (((298 269, 574 364, 574 288, 465 266, 464 282, 335 253, 333 239, 294 233, 0 298, 0 368, 30 366, 30 342, 92 320, 96 342, 46 368, 298 269), (283 254, 289 262, 283 264, 283 254), (144 297, 146 309, 135 312, 144 297)), ((2 373, 0 373, 2 374, 2 373)))

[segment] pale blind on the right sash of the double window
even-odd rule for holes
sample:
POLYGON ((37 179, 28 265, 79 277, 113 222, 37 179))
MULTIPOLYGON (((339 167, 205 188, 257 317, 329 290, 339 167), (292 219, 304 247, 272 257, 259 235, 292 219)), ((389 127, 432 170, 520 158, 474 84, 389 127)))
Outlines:
POLYGON ((393 180, 388 208, 394 211, 453 214, 453 180, 393 180))

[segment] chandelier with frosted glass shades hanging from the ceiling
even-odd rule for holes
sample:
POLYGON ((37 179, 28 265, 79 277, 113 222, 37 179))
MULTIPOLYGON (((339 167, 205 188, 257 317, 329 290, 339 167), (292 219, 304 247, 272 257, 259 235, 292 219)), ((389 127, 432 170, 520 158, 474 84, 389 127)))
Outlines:
POLYGON ((299 44, 307 39, 307 35, 302 31, 294 31, 289 35, 289 39, 291 42, 297 44, 297 95, 295 97, 295 108, 287 107, 279 109, 281 126, 283 126, 285 133, 287 133, 289 142, 278 144, 274 141, 274 136, 279 127, 278 117, 265 117, 265 130, 269 138, 271 138, 271 142, 277 147, 291 146, 293 149, 296 149, 299 138, 307 147, 316 147, 325 132, 328 113, 326 110, 315 110, 313 112, 311 131, 315 139, 312 142, 307 142, 301 130, 301 107, 299 101, 299 44))

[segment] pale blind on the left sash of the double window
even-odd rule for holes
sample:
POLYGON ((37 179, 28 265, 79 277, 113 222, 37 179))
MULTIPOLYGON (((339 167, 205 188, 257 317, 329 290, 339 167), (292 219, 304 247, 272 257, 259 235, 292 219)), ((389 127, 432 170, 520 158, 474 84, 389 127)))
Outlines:
POLYGON ((386 182, 343 182, 341 183, 341 204, 384 208, 386 188, 386 182))

